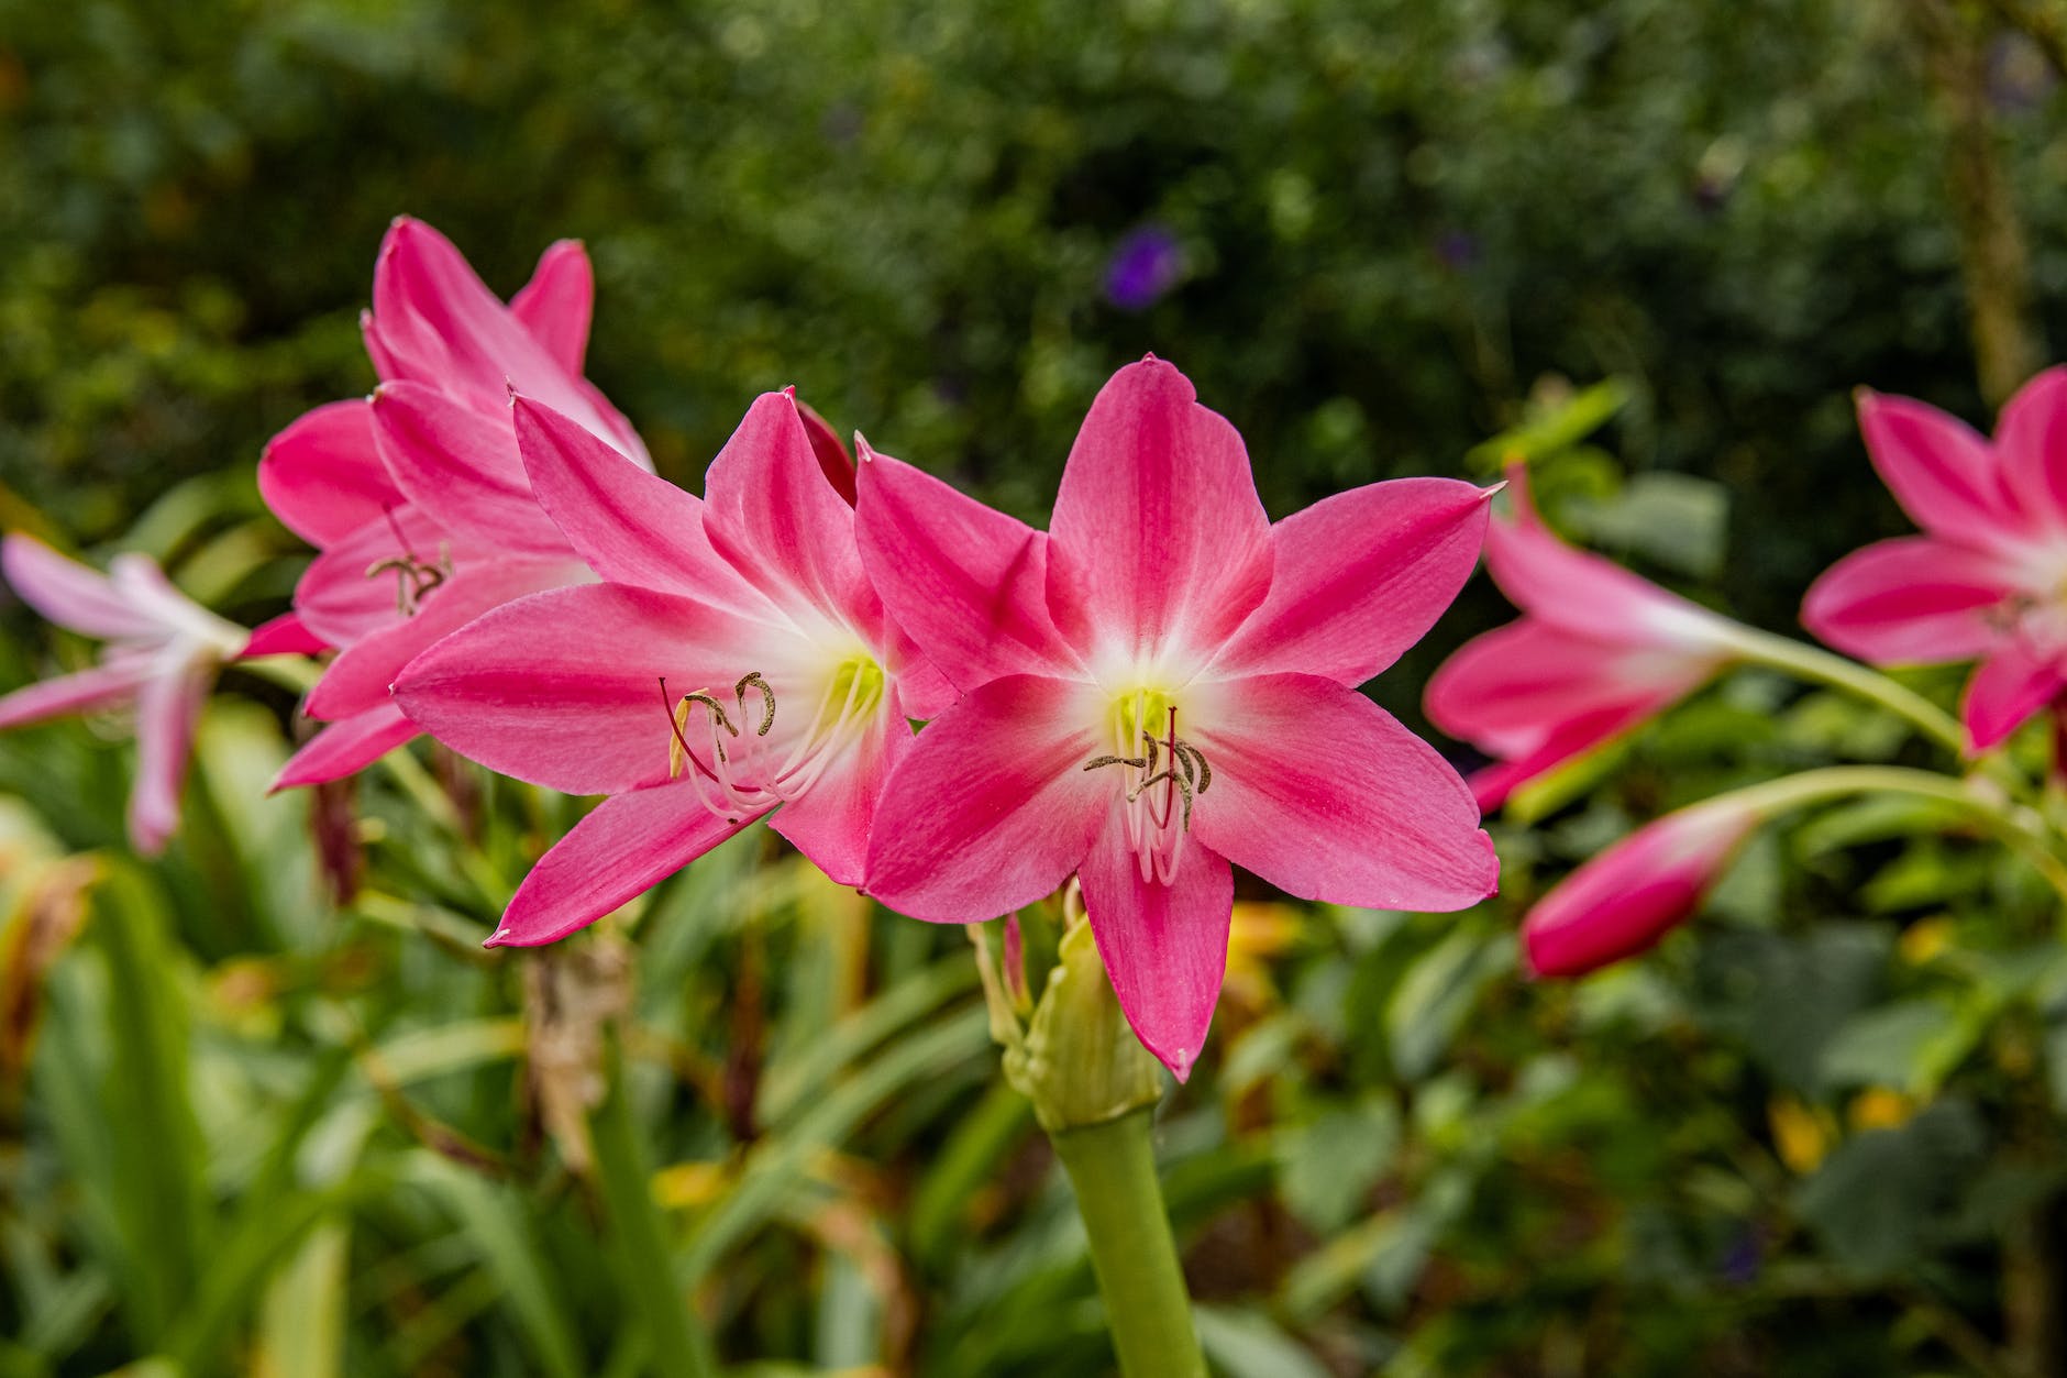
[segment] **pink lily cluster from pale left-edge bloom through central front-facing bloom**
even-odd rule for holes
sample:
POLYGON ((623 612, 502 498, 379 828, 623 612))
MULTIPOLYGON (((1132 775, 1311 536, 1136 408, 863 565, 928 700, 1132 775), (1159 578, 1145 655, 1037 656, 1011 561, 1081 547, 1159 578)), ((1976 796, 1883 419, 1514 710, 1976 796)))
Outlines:
POLYGON ((0 699, 0 726, 136 697, 155 844, 213 668, 335 652, 281 786, 428 732, 606 795, 490 946, 564 937, 763 817, 926 921, 1075 875, 1120 1008, 1180 1078, 1232 867, 1360 906, 1492 892, 1472 790, 1356 691, 1470 577, 1490 490, 1393 480, 1271 523, 1234 426, 1147 358, 1091 403, 1046 532, 860 437, 856 463, 790 391, 748 408, 697 497, 583 377, 591 300, 579 244, 504 304, 397 221, 364 314, 380 385, 258 466, 318 550, 294 610, 246 639, 155 569, 120 561, 110 590, 17 538, 10 583, 112 648, 0 699))

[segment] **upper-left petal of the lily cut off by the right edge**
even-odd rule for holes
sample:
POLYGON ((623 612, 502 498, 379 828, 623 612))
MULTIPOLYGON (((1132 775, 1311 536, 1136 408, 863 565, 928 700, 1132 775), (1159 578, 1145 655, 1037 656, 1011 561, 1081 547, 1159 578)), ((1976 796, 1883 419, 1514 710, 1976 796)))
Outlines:
POLYGON ((1858 430, 1895 501, 1933 536, 1988 546, 2028 528, 2003 492, 1995 451, 1966 422, 1860 389, 1858 430))

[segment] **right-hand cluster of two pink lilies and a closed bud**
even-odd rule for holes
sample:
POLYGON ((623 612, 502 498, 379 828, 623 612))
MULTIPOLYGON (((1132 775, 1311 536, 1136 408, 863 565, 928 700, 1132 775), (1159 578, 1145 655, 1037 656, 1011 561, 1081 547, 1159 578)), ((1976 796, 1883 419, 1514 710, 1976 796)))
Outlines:
MULTIPOLYGON (((2067 697, 2067 368, 2017 391, 1993 441, 1937 408, 1873 391, 1858 395, 1858 422, 1873 466, 1924 534, 1838 561, 1809 590, 1802 625, 1875 666, 1978 660, 1962 697, 1964 735, 1949 722, 1939 732, 1978 757, 2067 697)), ((1769 637, 1565 546, 1523 484, 1513 492, 1513 517, 1492 523, 1488 565, 1525 617, 1457 652, 1426 697, 1439 726, 1494 757, 1474 778, 1484 807, 1635 730, 1732 662, 1817 670, 1819 652, 1776 658, 1769 637)), ((1871 677, 1850 670, 1838 662, 1823 677, 1871 689, 1871 677)), ((1885 681, 1877 693, 1885 706, 1918 703, 1885 681)), ((1991 790, 1929 772, 1809 772, 1703 801, 1639 828, 1546 894, 1523 921, 1530 968, 1571 977, 1643 952, 1695 912, 1763 821, 1858 788, 1993 813, 1991 790)))

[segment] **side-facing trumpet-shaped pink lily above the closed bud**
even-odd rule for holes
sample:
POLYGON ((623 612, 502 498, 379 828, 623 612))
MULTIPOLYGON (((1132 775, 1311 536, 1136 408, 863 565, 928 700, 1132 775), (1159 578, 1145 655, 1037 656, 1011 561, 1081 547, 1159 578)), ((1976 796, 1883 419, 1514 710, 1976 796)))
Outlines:
POLYGON ((1525 617, 1466 641, 1422 699, 1430 722, 1497 757, 1472 776, 1482 809, 1662 714, 1738 643, 1728 619, 1559 540, 1519 466, 1507 490, 1513 513, 1486 532, 1486 567, 1525 617))

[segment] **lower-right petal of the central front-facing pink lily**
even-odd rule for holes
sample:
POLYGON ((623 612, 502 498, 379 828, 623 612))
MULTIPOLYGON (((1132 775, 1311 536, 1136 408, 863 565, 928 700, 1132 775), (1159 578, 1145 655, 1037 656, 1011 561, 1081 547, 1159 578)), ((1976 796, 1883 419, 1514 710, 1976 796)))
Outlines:
POLYGON ((1197 699, 1191 737, 1213 778, 1193 836, 1209 850, 1302 900, 1453 910, 1492 894, 1499 859, 1472 790, 1364 695, 1259 675, 1197 699))

